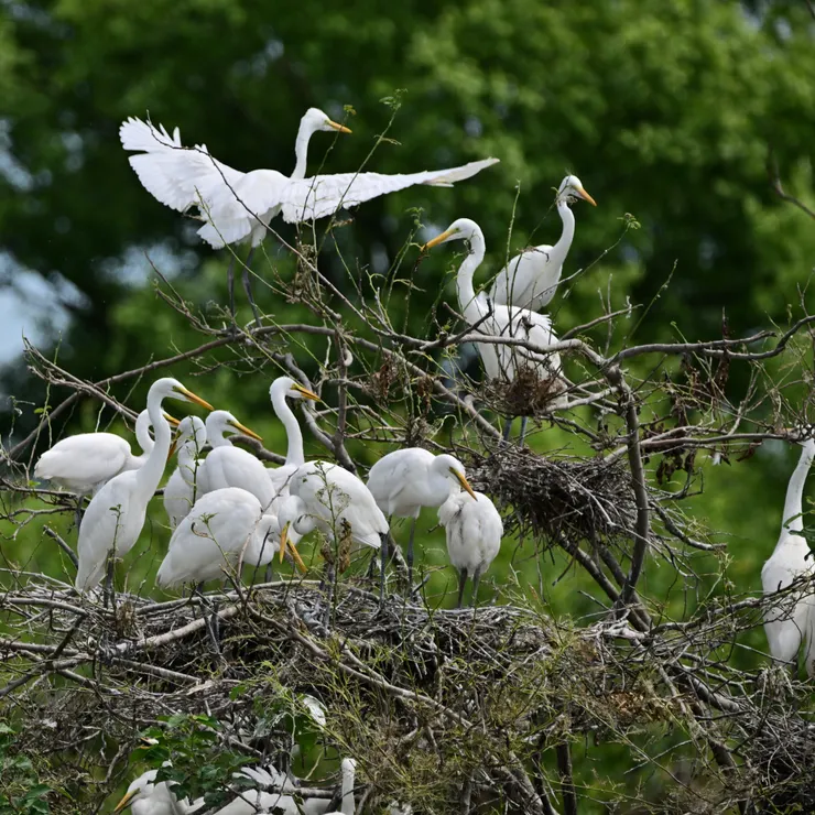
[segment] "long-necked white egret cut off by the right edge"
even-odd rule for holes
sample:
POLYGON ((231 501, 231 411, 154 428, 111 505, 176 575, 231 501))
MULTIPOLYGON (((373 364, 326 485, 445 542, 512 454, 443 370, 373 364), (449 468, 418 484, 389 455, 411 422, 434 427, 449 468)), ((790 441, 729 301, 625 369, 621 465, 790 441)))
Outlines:
MULTIPOLYGON (((815 572, 813 553, 803 535, 802 496, 806 477, 815 457, 815 441, 802 443, 803 450, 797 467, 790 478, 781 519, 781 535, 775 551, 761 569, 764 595, 783 589, 795 579, 815 572)), ((815 596, 814 589, 802 589, 800 596, 780 600, 764 612, 764 631, 770 653, 778 662, 795 665, 802 642, 805 645, 805 664, 809 676, 815 675, 815 596), (805 594, 808 591, 808 594, 805 594), (791 607, 791 604, 794 606, 791 607)))

